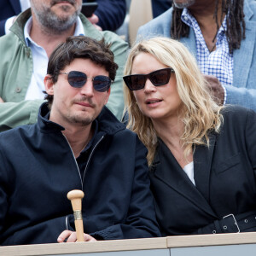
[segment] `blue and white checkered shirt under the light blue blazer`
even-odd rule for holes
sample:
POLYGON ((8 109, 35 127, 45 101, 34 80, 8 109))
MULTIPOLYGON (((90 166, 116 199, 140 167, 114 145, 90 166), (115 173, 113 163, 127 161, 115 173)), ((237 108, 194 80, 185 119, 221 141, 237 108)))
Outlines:
MULTIPOLYGON (((196 38, 196 59, 202 73, 213 75, 218 78, 222 85, 233 83, 233 54, 229 52, 229 44, 225 36, 226 18, 218 29, 216 49, 212 52, 201 33, 201 28, 188 9, 183 9, 182 20, 192 27, 196 38)), ((225 88, 224 88, 225 90, 225 88)), ((225 99, 226 100, 226 90, 225 99)))

